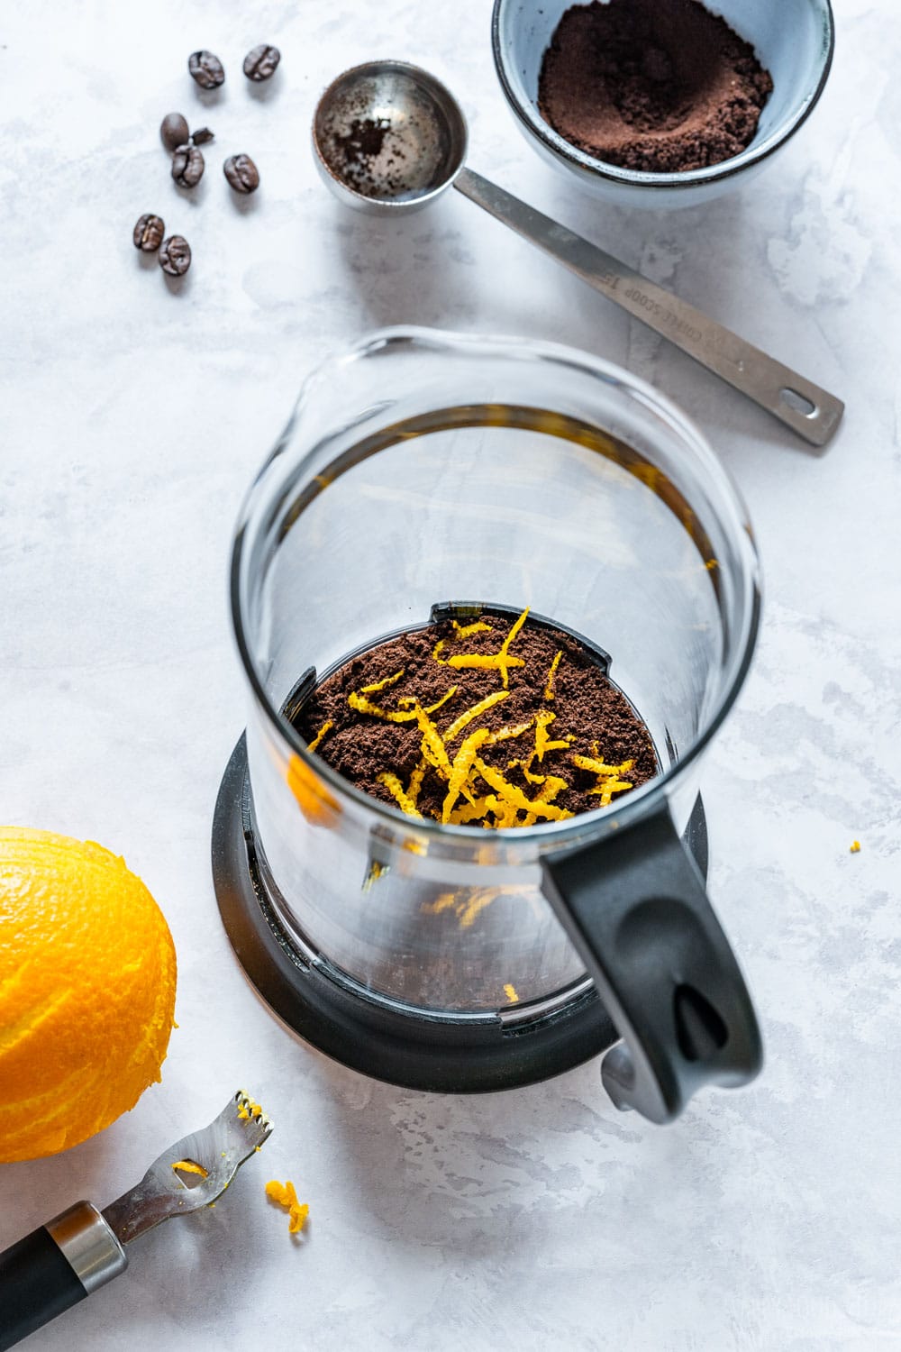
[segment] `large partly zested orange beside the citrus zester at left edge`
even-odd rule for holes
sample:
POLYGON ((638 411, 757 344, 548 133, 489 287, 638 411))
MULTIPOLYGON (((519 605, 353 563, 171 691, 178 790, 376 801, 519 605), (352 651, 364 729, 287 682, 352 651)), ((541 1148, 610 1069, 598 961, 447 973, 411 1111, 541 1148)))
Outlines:
POLYGON ((174 1002, 169 926, 124 860, 0 826, 0 1161, 55 1155, 134 1107, 174 1002))

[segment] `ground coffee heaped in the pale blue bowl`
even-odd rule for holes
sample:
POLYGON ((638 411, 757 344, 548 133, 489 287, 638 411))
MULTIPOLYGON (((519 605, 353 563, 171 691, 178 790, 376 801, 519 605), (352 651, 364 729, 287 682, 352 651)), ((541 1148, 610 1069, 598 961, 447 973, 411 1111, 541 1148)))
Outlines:
POLYGON ((596 160, 685 173, 744 150, 771 92, 754 47, 698 0, 593 0, 561 18, 538 107, 596 160))

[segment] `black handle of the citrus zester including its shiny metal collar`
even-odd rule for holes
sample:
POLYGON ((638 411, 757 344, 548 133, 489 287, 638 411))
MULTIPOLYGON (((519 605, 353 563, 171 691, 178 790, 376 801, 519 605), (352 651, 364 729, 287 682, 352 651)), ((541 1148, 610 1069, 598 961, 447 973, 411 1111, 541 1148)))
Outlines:
POLYGON ((39 1225, 0 1253, 0 1352, 72 1309, 128 1264, 91 1202, 39 1225))

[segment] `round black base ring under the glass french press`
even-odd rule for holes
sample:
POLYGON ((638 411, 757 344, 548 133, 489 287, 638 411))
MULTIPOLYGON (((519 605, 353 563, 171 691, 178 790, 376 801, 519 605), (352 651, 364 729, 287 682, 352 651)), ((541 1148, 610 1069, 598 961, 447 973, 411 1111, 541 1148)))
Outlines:
MULTIPOLYGON (((706 877, 698 795, 685 845, 706 877)), ((327 959, 300 949, 273 906, 254 821, 242 737, 223 776, 212 830, 212 873, 238 961, 272 1010, 305 1041, 373 1079, 404 1088, 478 1094, 550 1079, 600 1056, 616 1029, 594 988, 573 991, 552 1013, 528 1006, 484 1017, 415 1014, 374 1000, 327 959)))

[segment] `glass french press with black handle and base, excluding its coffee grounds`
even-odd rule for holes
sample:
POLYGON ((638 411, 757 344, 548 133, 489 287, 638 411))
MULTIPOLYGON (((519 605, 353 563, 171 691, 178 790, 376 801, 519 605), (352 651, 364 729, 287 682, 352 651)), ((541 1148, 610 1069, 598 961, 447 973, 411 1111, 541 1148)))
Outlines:
POLYGON ((288 1023, 436 1090, 609 1048, 612 1099, 658 1122, 756 1073, 697 780, 747 672, 758 564, 729 479, 671 404, 566 347, 377 333, 304 385, 244 503, 231 603, 251 702, 216 894, 288 1023), (608 653, 662 773, 569 821, 485 831, 404 815, 311 754, 293 722, 311 684, 448 604, 531 606, 608 653))

